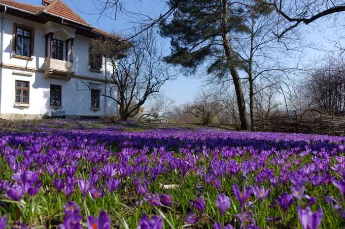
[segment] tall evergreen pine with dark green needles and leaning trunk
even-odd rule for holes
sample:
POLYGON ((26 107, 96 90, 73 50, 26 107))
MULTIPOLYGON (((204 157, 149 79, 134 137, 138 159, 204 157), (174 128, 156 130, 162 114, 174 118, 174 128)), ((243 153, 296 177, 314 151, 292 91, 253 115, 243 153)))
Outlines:
POLYGON ((239 108, 241 129, 250 128, 239 69, 245 64, 236 54, 233 39, 250 33, 245 25, 245 4, 229 0, 169 0, 178 5, 173 19, 161 22, 161 35, 171 38, 172 54, 166 61, 194 72, 207 66, 207 73, 231 75, 239 108))

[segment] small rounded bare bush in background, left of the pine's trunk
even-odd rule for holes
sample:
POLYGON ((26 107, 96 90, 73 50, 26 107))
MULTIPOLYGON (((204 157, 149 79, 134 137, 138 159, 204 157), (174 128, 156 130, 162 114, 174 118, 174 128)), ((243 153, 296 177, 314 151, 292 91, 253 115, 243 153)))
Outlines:
POLYGON ((199 92, 194 100, 192 114, 205 125, 211 124, 215 116, 224 109, 217 94, 199 92))

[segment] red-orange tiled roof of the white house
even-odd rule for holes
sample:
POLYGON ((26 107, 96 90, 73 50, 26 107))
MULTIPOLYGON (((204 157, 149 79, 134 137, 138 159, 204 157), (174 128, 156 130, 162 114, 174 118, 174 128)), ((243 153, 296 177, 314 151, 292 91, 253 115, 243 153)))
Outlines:
MULTIPOLYGON (((44 0, 44 3, 46 5, 37 6, 14 0, 0 0, 0 4, 12 6, 20 10, 25 10, 34 14, 44 12, 47 14, 51 14, 53 16, 62 17, 64 19, 91 27, 82 17, 80 17, 76 12, 69 8, 68 5, 62 2, 62 0, 44 0)), ((112 34, 97 28, 92 29, 92 31, 105 36, 113 36, 112 34)))

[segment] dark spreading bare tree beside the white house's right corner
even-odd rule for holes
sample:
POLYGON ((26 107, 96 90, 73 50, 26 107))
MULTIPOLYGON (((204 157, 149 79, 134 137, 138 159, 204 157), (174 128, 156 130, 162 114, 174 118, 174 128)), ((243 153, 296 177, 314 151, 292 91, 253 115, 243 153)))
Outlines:
MULTIPOLYGON (((117 103, 122 120, 138 114, 147 98, 174 78, 162 59, 163 49, 154 29, 140 33, 131 43, 107 37, 93 40, 90 47, 91 55, 104 56, 105 67, 112 69, 113 74, 107 81, 110 92, 100 91, 100 95, 117 103)), ((86 86, 92 89, 88 84, 86 86)))

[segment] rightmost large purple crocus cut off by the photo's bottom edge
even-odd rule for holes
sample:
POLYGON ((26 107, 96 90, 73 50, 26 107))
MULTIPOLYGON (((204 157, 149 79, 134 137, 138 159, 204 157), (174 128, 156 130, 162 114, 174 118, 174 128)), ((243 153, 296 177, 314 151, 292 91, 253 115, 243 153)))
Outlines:
POLYGON ((306 207, 304 210, 298 205, 297 212, 303 229, 317 229, 320 226, 323 216, 322 208, 312 213, 310 207, 306 207))

